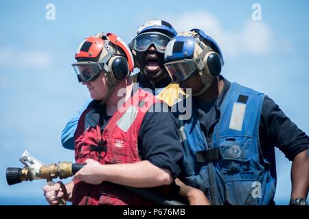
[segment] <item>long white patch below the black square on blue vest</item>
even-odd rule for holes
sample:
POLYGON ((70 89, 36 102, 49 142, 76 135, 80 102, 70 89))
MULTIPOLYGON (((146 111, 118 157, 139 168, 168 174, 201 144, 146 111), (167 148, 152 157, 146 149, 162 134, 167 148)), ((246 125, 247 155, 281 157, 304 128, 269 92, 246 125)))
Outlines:
POLYGON ((242 123, 244 122, 244 112, 246 111, 246 104, 234 103, 231 114, 231 120, 229 122, 229 129, 242 131, 242 123))

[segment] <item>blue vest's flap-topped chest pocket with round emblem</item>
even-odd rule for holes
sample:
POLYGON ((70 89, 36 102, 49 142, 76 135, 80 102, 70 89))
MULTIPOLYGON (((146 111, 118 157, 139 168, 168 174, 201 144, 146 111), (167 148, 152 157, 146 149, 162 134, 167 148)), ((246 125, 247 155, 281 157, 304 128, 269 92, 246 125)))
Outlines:
POLYGON ((219 166, 223 173, 252 172, 250 168, 252 138, 224 136, 220 138, 219 166))

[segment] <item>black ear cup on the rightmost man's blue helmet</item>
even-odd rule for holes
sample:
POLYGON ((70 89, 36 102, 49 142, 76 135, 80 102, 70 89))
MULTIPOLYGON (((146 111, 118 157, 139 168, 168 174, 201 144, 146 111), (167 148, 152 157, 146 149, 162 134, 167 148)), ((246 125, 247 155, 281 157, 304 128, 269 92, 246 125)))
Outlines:
POLYGON ((222 60, 218 53, 210 51, 203 58, 205 69, 208 71, 209 76, 218 77, 222 69, 222 60))

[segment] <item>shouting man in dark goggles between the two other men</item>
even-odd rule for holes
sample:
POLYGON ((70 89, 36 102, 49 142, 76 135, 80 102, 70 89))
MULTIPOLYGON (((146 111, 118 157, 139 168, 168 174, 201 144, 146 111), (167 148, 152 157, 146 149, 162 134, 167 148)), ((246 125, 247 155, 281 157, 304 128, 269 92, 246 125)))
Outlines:
POLYGON ((139 87, 152 90, 158 99, 169 106, 181 101, 184 92, 172 80, 164 67, 166 45, 177 35, 170 23, 162 20, 147 21, 137 29, 129 46, 135 65, 140 72, 133 76, 139 87))

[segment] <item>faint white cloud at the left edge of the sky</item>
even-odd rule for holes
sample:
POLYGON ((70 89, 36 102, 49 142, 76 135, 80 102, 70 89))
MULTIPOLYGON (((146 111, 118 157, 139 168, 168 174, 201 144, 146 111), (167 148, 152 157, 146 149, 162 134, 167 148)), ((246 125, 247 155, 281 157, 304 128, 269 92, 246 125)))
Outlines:
POLYGON ((51 66, 52 57, 45 51, 24 51, 14 47, 0 48, 1 68, 45 68, 51 66))

